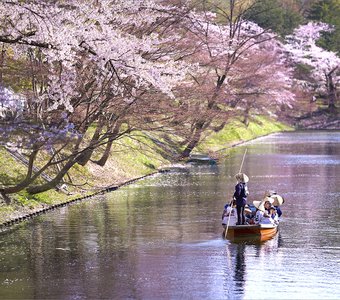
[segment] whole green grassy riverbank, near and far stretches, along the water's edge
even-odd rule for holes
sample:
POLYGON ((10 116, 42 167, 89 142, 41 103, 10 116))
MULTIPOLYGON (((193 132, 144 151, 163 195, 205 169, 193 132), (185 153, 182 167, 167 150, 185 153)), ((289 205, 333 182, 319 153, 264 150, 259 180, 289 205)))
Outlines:
MULTIPOLYGON (((234 120, 220 132, 208 132, 197 148, 197 153, 212 157, 225 156, 234 146, 271 133, 292 130, 291 127, 268 118, 257 117, 246 127, 234 120)), ((90 163, 86 167, 76 166, 69 174, 73 185, 66 190, 51 190, 37 195, 19 193, 11 195, 12 202, 0 203, 0 224, 8 226, 49 210, 81 201, 119 188, 150 176, 173 161, 164 158, 157 151, 151 151, 150 144, 132 138, 125 138, 116 145, 115 152, 104 167, 90 163)), ((18 180, 24 168, 5 150, 0 151, 0 177, 7 183, 18 180)), ((185 163, 185 162, 183 162, 185 163)))

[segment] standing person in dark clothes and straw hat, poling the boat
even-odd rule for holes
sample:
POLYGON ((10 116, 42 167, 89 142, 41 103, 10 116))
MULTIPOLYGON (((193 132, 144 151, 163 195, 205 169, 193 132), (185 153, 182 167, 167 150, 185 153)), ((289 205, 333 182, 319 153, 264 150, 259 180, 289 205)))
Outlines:
POLYGON ((238 173, 235 176, 237 184, 235 186, 234 199, 236 201, 236 211, 237 211, 237 223, 236 225, 245 225, 246 217, 244 214, 244 209, 247 204, 247 196, 249 195, 249 190, 247 182, 249 178, 244 173, 238 173))

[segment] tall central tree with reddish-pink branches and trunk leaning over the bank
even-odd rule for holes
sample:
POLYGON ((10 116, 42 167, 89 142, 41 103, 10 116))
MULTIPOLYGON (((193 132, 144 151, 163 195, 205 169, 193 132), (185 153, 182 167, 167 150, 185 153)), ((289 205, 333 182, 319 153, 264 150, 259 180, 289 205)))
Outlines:
MULTIPOLYGON (((235 110, 232 109, 235 95, 238 93, 240 97, 242 93, 244 95, 246 93, 242 89, 235 92, 237 86, 234 84, 237 81, 241 82, 242 74, 247 74, 250 69, 253 71, 256 69, 255 65, 251 66, 251 55, 262 52, 261 45, 269 44, 275 38, 270 32, 244 18, 249 9, 247 1, 227 3, 226 7, 214 7, 217 13, 212 13, 209 3, 202 1, 201 11, 192 14, 187 25, 188 33, 183 42, 186 46, 190 45, 190 49, 194 49, 187 55, 187 59, 198 62, 200 68, 191 73, 192 81, 186 83, 184 87, 190 94, 189 92, 181 94, 182 98, 185 98, 183 102, 187 103, 185 109, 189 117, 186 120, 187 128, 190 130, 182 142, 181 157, 187 157, 191 153, 207 130, 221 130, 230 116, 235 115, 235 110), (248 64, 245 63, 247 60, 248 64)), ((272 68, 273 73, 275 70, 272 68)), ((272 79, 274 78, 272 76, 272 79)), ((270 86, 267 84, 267 88, 270 86)), ((243 87, 244 89, 246 88, 243 87)), ((266 93, 270 93, 269 90, 266 90, 266 93)), ((288 98, 280 99, 278 96, 273 97, 271 101, 285 102, 288 98)), ((254 96, 253 99, 257 98, 254 96)), ((245 103, 239 101, 243 109, 246 109, 245 103)))

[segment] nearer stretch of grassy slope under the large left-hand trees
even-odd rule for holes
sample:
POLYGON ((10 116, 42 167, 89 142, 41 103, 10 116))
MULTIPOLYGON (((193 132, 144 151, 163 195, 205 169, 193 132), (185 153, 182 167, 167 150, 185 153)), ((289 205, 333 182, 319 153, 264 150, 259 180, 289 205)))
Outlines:
MULTIPOLYGON (((89 163, 86 167, 74 166, 69 172, 74 184, 68 187, 70 195, 56 190, 37 195, 20 192, 10 195, 12 204, 9 206, 0 201, 0 223, 49 205, 92 194, 110 185, 153 173, 158 167, 168 163, 159 155, 150 152, 150 144, 146 140, 137 142, 131 138, 124 138, 115 145, 114 149, 104 167, 94 163, 89 163)), ((25 167, 0 148, 0 182, 12 184, 22 179, 24 175, 25 167)))

